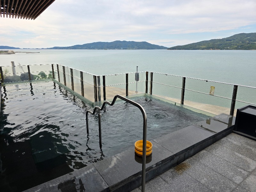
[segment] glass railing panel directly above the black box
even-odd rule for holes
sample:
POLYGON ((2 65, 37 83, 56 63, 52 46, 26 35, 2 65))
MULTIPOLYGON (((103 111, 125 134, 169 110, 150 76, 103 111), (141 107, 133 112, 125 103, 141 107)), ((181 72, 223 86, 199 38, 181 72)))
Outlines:
POLYGON ((235 108, 256 104, 256 88, 238 86, 236 100, 244 102, 236 102, 235 108))

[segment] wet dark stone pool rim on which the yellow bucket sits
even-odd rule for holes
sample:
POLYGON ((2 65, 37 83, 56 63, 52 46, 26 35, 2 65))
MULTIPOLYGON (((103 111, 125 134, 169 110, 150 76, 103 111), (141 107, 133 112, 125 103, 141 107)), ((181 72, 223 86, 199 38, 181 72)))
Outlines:
MULTIPOLYGON (((146 181, 180 164, 234 129, 235 117, 220 114, 152 140, 146 181)), ((141 159, 130 148, 77 171, 48 181, 30 191, 131 191, 141 185, 141 159)))

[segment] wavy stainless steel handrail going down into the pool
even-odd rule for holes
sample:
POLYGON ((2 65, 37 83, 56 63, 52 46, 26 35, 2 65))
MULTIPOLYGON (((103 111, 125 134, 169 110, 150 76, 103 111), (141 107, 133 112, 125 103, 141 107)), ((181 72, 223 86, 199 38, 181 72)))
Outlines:
MULTIPOLYGON (((124 100, 136 107, 138 107, 142 113, 143 116, 143 148, 142 148, 142 177, 141 177, 141 191, 145 192, 145 181, 146 181, 146 145, 147 145, 147 115, 146 112, 144 110, 144 108, 139 104, 136 103, 132 100, 127 99, 126 97, 123 97, 121 95, 116 95, 112 101, 112 103, 110 103, 109 101, 104 101, 102 104, 102 107, 100 108, 99 106, 96 106, 92 111, 88 110, 86 111, 86 129, 87 129, 87 134, 89 134, 89 122, 88 122, 88 113, 91 113, 92 115, 94 115, 97 111, 97 109, 99 110, 99 132, 101 132, 101 122, 100 122, 100 111, 103 110, 103 108, 105 107, 106 104, 112 106, 115 104, 116 99, 119 98, 121 100, 124 100)), ((100 135, 100 140, 101 140, 101 133, 99 133, 100 135)))

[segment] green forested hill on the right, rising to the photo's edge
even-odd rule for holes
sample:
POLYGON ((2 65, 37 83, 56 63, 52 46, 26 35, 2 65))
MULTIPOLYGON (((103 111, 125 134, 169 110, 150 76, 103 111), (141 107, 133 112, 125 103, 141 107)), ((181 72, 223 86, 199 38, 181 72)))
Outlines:
POLYGON ((256 50, 256 33, 240 33, 223 39, 211 39, 168 50, 256 50))

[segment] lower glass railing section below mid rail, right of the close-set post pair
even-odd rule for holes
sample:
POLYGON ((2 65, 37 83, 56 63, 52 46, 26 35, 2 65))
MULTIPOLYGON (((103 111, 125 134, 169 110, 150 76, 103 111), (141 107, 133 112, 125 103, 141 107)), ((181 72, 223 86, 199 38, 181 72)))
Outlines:
MULTIPOLYGON (((148 93, 150 93, 150 83, 148 83, 148 93)), ((152 95, 180 103, 181 88, 153 83, 152 95)))

